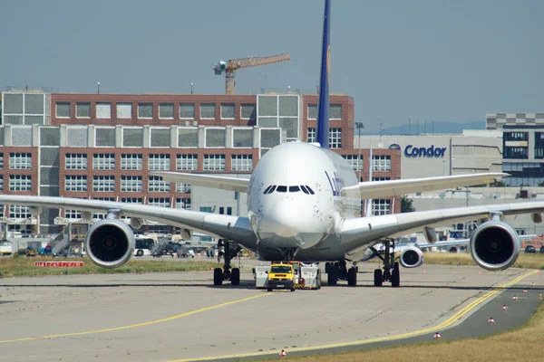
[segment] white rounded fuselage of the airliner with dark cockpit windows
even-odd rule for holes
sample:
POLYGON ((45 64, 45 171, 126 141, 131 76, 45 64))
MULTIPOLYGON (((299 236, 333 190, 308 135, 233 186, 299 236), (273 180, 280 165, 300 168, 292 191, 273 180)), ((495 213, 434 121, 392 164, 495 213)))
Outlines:
POLYGON ((257 235, 258 257, 344 258, 335 226, 343 218, 360 216, 361 200, 344 197, 340 190, 357 184, 352 167, 331 150, 304 142, 269 150, 258 162, 248 189, 248 217, 257 235))

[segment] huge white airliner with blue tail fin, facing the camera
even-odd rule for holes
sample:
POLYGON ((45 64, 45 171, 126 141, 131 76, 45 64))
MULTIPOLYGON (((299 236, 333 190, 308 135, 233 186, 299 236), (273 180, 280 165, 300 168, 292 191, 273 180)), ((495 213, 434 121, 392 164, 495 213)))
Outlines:
MULTIPOLYGON (((143 219, 180 227, 184 239, 189 239, 192 232, 221 238, 228 243, 224 244, 223 268, 214 270, 214 285, 223 281, 239 284, 239 270, 231 269, 230 261, 240 248, 255 252, 262 261, 331 262, 325 264, 329 271, 327 282, 335 285, 347 262, 361 261, 368 249, 384 244, 384 266, 374 271, 374 286, 388 281, 392 287, 399 287, 399 262, 390 252, 395 238, 423 229, 427 240, 434 243, 435 227, 471 220, 481 221, 469 243, 474 261, 490 271, 509 268, 520 253, 520 237, 502 221, 504 216, 530 213, 534 222, 541 222, 544 202, 361 217, 361 200, 487 184, 509 175, 486 173, 359 182, 345 159, 328 148, 330 19, 330 0, 325 0, 316 143, 287 142, 270 149, 248 180, 166 171, 151 173, 170 182, 248 193, 248 217, 35 195, 0 195, 0 204, 30 206, 33 215, 40 214, 43 207, 82 210, 87 220, 92 219, 92 213, 107 213, 104 219, 92 224, 84 241, 91 262, 103 268, 117 268, 131 259, 135 243, 132 229, 140 229, 143 219), (121 216, 131 218, 130 225, 121 221, 121 216)), ((346 274, 348 285, 356 285, 355 266, 346 274)))

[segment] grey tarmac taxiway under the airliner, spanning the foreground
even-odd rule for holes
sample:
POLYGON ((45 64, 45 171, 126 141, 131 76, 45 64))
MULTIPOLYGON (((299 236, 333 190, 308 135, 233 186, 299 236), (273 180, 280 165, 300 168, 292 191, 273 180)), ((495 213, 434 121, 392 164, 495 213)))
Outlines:
MULTIPOLYGON (((523 323, 538 306, 544 285, 542 275, 534 273, 471 309, 471 302, 527 271, 423 265, 404 269, 402 287, 393 289, 374 288, 377 264, 362 263, 356 287, 268 293, 254 288, 249 271, 255 262, 242 262, 246 268, 238 287, 213 287, 211 271, 2 279, 2 359, 225 360, 277 357, 282 348, 289 354, 308 354, 311 348, 323 352, 327 346, 347 350, 357 348, 345 346, 353 342, 430 329, 468 310, 466 322, 441 331, 442 339, 458 338, 465 323, 476 323, 480 328, 466 330, 482 333, 523 323), (518 289, 524 284, 528 293, 518 289), (490 329, 489 316, 481 316, 518 291, 517 304, 510 301, 508 311, 494 313, 497 321, 490 329)), ((418 338, 413 341, 432 336, 418 338)))

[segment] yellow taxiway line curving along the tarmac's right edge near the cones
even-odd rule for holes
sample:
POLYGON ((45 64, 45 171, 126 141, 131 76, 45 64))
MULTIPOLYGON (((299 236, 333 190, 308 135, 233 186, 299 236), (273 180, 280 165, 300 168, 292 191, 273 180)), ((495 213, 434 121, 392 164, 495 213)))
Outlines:
MULTIPOLYGON (((506 288, 509 288, 510 286, 520 282, 522 279, 525 279, 529 277, 530 275, 536 274, 538 272, 539 271, 528 271, 524 274, 521 274, 518 278, 514 279, 513 281, 508 281, 504 284, 501 284, 500 286, 496 287, 492 291, 489 291, 485 293, 484 295, 482 295, 481 297, 477 298, 476 300, 471 301, 471 303, 464 306, 461 310, 457 311, 449 319, 446 319, 439 325, 431 327, 431 328, 414 330, 413 332, 401 333, 394 336, 379 337, 379 338, 372 338, 372 339, 365 339, 365 340, 356 340, 353 342, 342 342, 342 343, 332 343, 332 344, 321 345, 321 346, 289 348, 289 352, 290 353, 305 352, 305 351, 328 349, 328 348, 360 346, 360 345, 365 345, 369 343, 384 342, 384 341, 393 340, 393 339, 410 338, 410 337, 419 336, 425 333, 431 333, 439 329, 446 329, 448 327, 451 327, 453 324, 459 321, 459 319, 461 319, 462 317, 466 316, 471 310, 474 310, 476 307, 483 304, 484 301, 489 300, 491 297, 498 294, 500 291, 503 291, 506 288)), ((234 358, 244 358, 244 357, 265 357, 265 356, 272 356, 272 355, 276 356, 277 351, 274 350, 274 351, 262 351, 262 352, 253 352, 253 353, 241 353, 238 355, 228 355, 228 356, 173 359, 173 360, 170 360, 169 362, 196 362, 196 361, 210 361, 210 360, 234 359, 234 358)))

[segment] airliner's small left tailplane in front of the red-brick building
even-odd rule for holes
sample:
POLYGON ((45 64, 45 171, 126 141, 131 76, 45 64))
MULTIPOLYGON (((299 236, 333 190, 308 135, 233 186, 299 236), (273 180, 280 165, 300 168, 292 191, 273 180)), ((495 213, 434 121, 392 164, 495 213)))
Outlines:
POLYGON ((150 175, 161 176, 162 179, 165 181, 203 187, 219 188, 221 190, 228 191, 238 191, 240 193, 247 193, 249 186, 248 178, 184 174, 182 172, 171 171, 150 172, 150 175))

